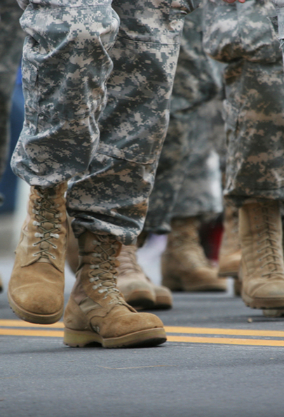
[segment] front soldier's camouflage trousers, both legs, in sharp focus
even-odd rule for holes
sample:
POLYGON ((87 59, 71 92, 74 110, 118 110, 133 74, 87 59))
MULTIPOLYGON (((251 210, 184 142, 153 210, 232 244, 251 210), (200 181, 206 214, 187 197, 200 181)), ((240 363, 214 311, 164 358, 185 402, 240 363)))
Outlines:
POLYGON ((13 171, 69 180, 74 232, 142 230, 191 0, 31 0, 20 20, 25 124, 13 171))

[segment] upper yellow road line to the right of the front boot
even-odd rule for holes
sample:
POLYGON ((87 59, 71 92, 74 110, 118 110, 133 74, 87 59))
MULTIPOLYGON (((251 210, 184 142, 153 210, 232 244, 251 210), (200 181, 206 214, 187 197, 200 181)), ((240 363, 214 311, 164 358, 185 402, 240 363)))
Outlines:
POLYGON ((168 333, 224 334, 229 336, 266 336, 271 338, 284 338, 284 331, 273 330, 213 329, 207 327, 165 326, 165 331, 168 333))

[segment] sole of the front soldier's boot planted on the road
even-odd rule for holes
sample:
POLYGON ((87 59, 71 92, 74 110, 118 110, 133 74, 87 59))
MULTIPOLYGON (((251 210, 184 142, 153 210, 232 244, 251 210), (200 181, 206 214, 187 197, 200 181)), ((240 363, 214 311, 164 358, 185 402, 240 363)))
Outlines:
POLYGON ((136 331, 118 338, 102 338, 92 331, 64 329, 63 343, 72 348, 83 348, 86 345, 101 345, 102 348, 142 348, 161 345, 167 336, 163 328, 136 331))

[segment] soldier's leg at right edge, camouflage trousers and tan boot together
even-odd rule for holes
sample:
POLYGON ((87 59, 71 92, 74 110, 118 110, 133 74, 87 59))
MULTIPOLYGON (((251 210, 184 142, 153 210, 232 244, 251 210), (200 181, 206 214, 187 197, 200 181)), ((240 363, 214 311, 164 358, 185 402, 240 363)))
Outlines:
MULTIPOLYGON (((227 26, 220 23, 218 34, 218 25, 210 28, 210 19, 207 21, 206 48, 215 58, 232 61, 225 74, 225 195, 241 207, 242 296, 250 307, 280 308, 284 305, 279 209, 284 197, 284 90, 278 40, 269 20, 273 6, 269 1, 249 1, 221 6, 219 13, 227 26), (252 29, 252 22, 259 31, 252 29), (230 27, 227 34, 224 27, 230 27), (211 29, 217 32, 210 33, 211 29), (221 34, 229 49, 220 40, 221 34)), ((214 12, 211 18, 219 22, 214 12)))

